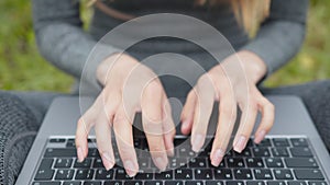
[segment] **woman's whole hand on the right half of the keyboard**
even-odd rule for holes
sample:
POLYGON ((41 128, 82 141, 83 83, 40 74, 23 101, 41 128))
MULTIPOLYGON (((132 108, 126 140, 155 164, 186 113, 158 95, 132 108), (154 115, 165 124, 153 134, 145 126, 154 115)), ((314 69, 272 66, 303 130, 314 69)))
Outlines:
POLYGON ((251 51, 239 51, 213 67, 198 80, 189 92, 182 113, 182 131, 191 131, 191 146, 199 151, 204 146, 213 102, 219 101, 219 117, 211 163, 218 166, 226 150, 237 119, 237 107, 242 111, 233 149, 242 152, 253 130, 257 112, 262 114, 254 142, 260 143, 274 123, 274 105, 263 96, 256 83, 265 76, 264 61, 251 51), (241 60, 241 62, 240 62, 241 60))

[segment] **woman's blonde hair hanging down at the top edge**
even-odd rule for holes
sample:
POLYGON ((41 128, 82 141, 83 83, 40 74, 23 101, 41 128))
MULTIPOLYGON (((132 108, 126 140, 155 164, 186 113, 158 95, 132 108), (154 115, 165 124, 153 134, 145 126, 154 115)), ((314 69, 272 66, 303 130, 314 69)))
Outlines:
MULTIPOLYGON (((271 0, 195 0, 197 5, 217 5, 218 3, 229 2, 233 9, 233 13, 240 26, 252 36, 260 24, 268 16, 271 0)), ((110 16, 128 21, 134 16, 117 11, 105 5, 100 0, 89 0, 89 5, 95 4, 101 11, 110 16)))

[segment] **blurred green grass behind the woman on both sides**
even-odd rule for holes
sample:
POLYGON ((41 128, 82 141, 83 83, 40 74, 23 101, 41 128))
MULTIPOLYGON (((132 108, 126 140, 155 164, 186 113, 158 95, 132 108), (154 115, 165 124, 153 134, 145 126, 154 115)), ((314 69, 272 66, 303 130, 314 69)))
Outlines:
MULTIPOLYGON (((85 5, 81 9, 82 20, 88 22, 91 11, 85 5)), ((268 78, 267 86, 330 78, 329 10, 328 0, 310 2, 308 31, 300 53, 268 78)), ((1 0, 0 89, 69 92, 73 82, 72 77, 51 66, 38 54, 32 30, 31 2, 1 0)))

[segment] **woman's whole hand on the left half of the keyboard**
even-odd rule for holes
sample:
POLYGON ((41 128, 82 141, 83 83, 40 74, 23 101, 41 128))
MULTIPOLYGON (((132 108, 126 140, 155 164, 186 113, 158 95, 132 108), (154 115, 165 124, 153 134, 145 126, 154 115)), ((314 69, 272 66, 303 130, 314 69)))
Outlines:
POLYGON ((142 125, 153 162, 160 170, 167 165, 174 151, 175 126, 161 81, 146 66, 125 54, 114 54, 102 61, 97 78, 103 85, 94 105, 79 118, 76 146, 79 161, 88 153, 87 137, 95 127, 97 147, 107 170, 114 165, 111 144, 113 129, 119 154, 130 176, 139 171, 133 146, 132 124, 142 112, 142 125))

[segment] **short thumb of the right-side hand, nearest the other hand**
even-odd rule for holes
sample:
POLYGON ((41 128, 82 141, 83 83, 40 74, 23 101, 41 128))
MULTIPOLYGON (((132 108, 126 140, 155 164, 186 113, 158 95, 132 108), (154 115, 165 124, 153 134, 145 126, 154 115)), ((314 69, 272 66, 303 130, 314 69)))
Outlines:
POLYGON ((182 113, 182 132, 184 135, 188 135, 191 131, 196 100, 196 92, 193 89, 187 96, 182 113))

